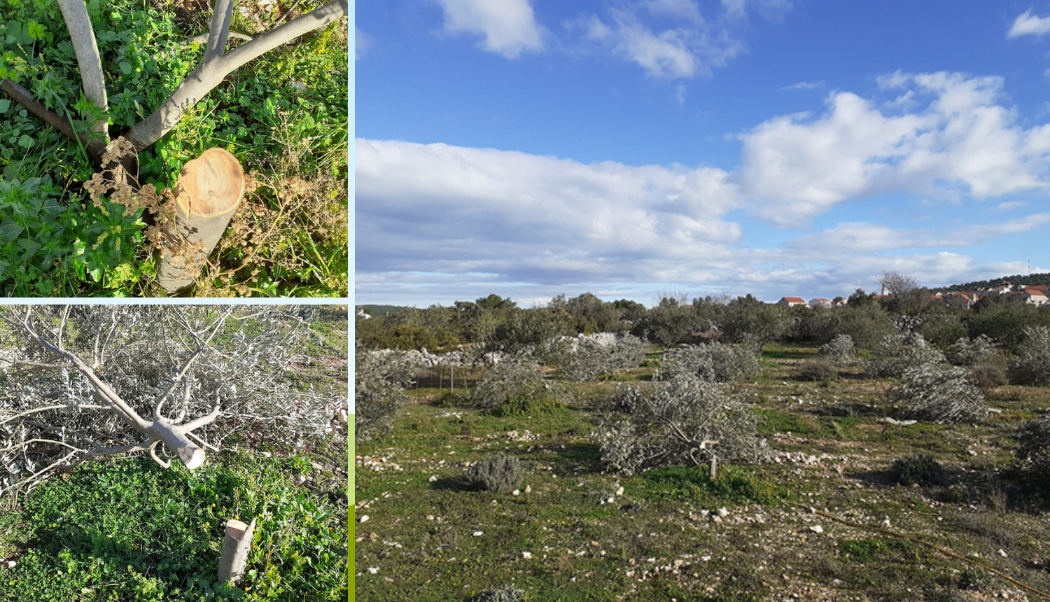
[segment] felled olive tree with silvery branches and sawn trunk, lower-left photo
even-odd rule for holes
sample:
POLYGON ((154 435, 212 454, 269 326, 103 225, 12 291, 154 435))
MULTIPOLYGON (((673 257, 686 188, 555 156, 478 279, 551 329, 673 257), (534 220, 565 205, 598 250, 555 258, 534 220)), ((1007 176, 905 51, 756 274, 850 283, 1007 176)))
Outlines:
POLYGON ((148 452, 193 470, 234 432, 322 432, 338 402, 288 371, 306 334, 296 310, 0 308, 0 493, 93 457, 148 452))

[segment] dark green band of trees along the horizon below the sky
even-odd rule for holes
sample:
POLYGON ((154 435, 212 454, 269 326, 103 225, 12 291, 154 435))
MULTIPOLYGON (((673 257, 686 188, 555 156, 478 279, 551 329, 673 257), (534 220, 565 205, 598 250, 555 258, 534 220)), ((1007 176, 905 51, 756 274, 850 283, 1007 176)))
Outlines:
POLYGON ((747 295, 684 299, 665 297, 646 308, 629 299, 605 302, 591 293, 559 295, 545 307, 519 308, 510 298, 491 294, 450 307, 407 308, 369 319, 358 318, 357 340, 370 349, 448 351, 462 345, 486 350, 520 351, 563 335, 630 332, 648 342, 718 340, 823 345, 839 334, 857 347, 873 349, 894 332, 917 332, 947 349, 958 339, 987 335, 1014 349, 1025 326, 1050 326, 1050 306, 1035 307, 994 295, 972 309, 950 307, 929 297, 927 289, 879 297, 857 290, 842 307, 811 309, 765 304, 747 295))

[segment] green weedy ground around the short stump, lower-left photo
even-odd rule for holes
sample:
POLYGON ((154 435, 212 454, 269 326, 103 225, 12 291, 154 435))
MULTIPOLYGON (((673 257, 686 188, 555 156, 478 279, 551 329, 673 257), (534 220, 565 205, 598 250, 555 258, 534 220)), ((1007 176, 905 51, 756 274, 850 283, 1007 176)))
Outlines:
MULTIPOLYGON (((346 394, 346 313, 314 323, 304 383, 346 394)), ((301 445, 227 439, 195 471, 112 457, 61 473, 0 513, 2 602, 346 599, 348 430, 301 445), (248 574, 216 583, 224 524, 256 520, 248 574)))

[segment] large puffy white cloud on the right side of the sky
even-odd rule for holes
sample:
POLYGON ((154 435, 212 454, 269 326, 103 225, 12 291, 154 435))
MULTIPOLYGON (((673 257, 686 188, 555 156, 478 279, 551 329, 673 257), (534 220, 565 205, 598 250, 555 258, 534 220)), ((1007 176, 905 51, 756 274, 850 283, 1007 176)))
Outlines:
POLYGON ((791 226, 877 193, 961 187, 985 199, 1046 186, 1050 126, 1016 125, 999 104, 1002 78, 896 72, 879 85, 910 110, 836 91, 817 118, 777 117, 739 137, 755 214, 791 226))

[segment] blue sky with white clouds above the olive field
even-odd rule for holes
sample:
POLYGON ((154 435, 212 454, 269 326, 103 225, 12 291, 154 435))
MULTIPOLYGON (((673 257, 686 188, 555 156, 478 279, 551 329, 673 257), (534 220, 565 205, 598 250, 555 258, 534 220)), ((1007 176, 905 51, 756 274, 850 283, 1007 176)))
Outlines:
POLYGON ((1050 271, 1050 1, 356 6, 357 304, 1050 271))

